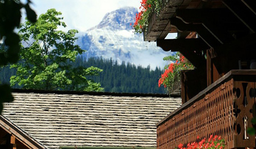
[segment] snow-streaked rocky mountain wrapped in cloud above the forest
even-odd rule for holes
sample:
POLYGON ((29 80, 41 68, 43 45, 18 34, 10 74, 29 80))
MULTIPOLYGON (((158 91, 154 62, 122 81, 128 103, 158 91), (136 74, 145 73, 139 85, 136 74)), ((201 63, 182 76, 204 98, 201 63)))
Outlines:
POLYGON ((134 22, 137 9, 124 7, 107 13, 99 25, 88 29, 77 44, 87 50, 84 57, 112 58, 118 63, 125 61, 151 68, 166 64, 163 57, 173 54, 164 52, 155 42, 144 42, 143 34, 134 34, 130 23, 134 22))

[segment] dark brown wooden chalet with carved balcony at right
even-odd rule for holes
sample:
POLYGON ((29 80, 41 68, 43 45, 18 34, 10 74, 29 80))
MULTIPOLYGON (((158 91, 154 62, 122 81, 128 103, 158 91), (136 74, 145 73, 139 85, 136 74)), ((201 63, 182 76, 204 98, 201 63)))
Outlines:
POLYGON ((256 0, 163 0, 145 41, 179 51, 195 67, 181 76, 183 105, 157 123, 157 149, 221 135, 226 149, 255 148, 256 0), (168 33, 177 39, 165 39, 168 33))

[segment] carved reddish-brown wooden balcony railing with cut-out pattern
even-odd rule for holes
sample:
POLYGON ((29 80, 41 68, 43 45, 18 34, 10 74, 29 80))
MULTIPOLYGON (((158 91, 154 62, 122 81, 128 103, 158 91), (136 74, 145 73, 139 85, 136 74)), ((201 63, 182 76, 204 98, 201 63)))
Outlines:
POLYGON ((256 115, 255 88, 255 70, 228 72, 157 123, 157 149, 175 149, 211 134, 222 136, 226 149, 255 147, 255 136, 246 132, 256 115))

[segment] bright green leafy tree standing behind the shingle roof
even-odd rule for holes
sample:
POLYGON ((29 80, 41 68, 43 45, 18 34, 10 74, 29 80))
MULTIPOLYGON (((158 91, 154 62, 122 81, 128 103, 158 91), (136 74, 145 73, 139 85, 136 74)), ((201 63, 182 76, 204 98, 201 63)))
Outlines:
POLYGON ((18 83, 25 89, 65 89, 79 91, 100 91, 99 83, 86 76, 98 75, 102 69, 96 67, 73 67, 76 56, 84 52, 75 45, 77 30, 63 32, 66 27, 61 12, 49 9, 38 17, 36 23, 26 21, 20 25, 20 63, 13 64, 17 73, 10 83, 18 83))

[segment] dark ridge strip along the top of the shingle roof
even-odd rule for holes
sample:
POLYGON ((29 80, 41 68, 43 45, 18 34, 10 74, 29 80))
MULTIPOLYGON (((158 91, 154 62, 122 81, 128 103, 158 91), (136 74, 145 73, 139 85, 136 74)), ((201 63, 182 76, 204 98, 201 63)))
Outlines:
POLYGON ((180 95, 150 94, 150 93, 84 92, 84 91, 56 91, 56 90, 49 91, 49 90, 38 90, 38 89, 12 89, 12 92, 13 93, 38 93, 38 94, 180 98, 180 95))

